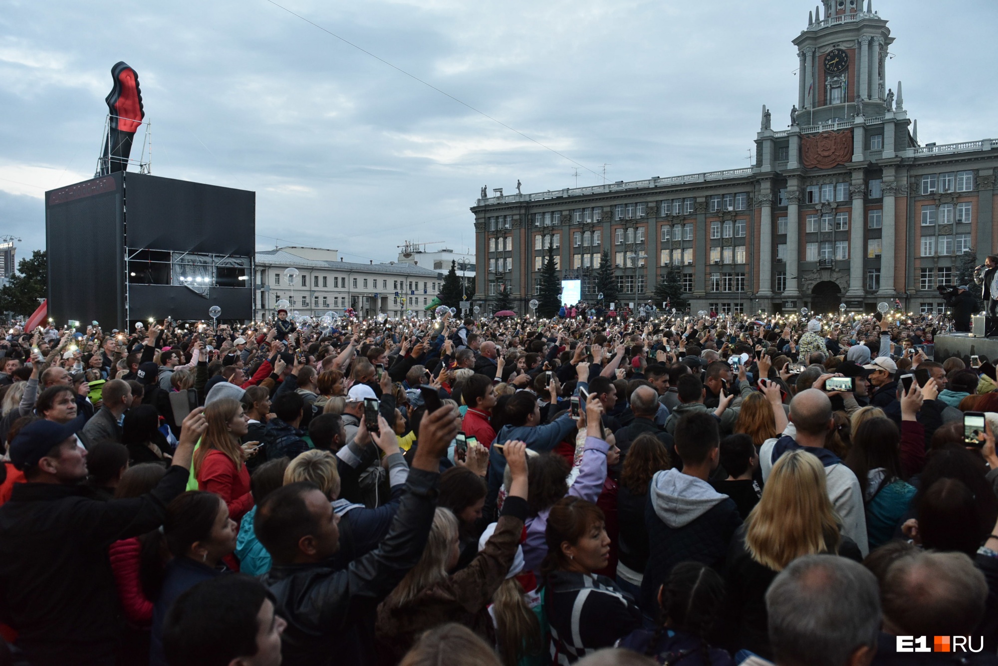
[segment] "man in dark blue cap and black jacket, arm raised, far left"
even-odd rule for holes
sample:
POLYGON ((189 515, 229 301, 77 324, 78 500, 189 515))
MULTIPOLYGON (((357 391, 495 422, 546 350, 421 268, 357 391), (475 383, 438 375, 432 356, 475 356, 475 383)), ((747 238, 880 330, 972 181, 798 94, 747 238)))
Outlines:
POLYGON ((135 499, 94 499, 81 484, 87 452, 78 421, 35 421, 10 443, 27 483, 0 506, 0 621, 34 666, 113 666, 121 608, 108 546, 163 524, 184 492, 191 457, 208 428, 203 409, 184 420, 173 467, 135 499))

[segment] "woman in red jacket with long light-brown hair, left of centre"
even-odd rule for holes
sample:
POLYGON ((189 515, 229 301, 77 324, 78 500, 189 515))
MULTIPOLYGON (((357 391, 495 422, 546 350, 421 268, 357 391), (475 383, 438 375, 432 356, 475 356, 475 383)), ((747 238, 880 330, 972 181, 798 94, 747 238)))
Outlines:
POLYGON ((198 490, 215 493, 226 501, 232 518, 239 522, 252 508, 250 472, 245 465, 258 442, 240 446, 249 431, 249 418, 234 398, 221 398, 205 408, 208 430, 194 452, 192 473, 198 490))

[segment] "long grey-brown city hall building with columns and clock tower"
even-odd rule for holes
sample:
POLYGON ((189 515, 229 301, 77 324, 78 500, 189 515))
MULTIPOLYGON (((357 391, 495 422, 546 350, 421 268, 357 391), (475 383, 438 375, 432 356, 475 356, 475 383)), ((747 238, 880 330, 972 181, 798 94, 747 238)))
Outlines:
MULTIPOLYGON (((677 267, 693 311, 869 311, 900 299, 941 311, 960 255, 995 247, 998 139, 918 143, 894 38, 869 0, 823 0, 793 40, 797 103, 788 130, 763 107, 754 165, 533 194, 487 196, 475 215, 477 293, 536 294, 551 246, 563 279, 596 300, 603 252, 620 302, 653 300, 677 267)), ((780 116, 783 116, 781 113, 780 116)), ((784 116, 785 117, 785 116, 784 116)), ((498 191, 498 190, 497 190, 498 191)), ((661 303, 658 304, 661 307, 661 303)))

